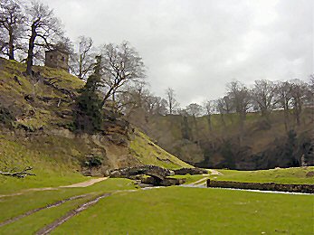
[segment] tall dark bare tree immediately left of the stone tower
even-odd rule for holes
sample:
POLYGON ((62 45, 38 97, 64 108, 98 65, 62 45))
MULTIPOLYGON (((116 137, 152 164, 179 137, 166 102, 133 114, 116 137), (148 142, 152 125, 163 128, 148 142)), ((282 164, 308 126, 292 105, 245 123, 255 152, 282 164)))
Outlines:
POLYGON ((34 48, 52 48, 53 42, 57 42, 63 36, 62 26, 48 5, 40 2, 32 2, 26 8, 27 22, 30 31, 26 73, 32 74, 34 48))

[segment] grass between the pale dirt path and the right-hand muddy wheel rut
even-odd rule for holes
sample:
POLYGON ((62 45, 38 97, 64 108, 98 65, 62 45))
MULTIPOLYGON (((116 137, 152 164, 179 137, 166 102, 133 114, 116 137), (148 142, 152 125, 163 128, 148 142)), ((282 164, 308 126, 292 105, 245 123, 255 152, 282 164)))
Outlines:
POLYGON ((35 212, 19 221, 7 224, 0 228, 0 234, 33 234, 36 230, 43 228, 44 225, 62 217, 67 211, 77 208, 83 202, 87 202, 101 193, 128 189, 135 189, 132 181, 127 179, 109 179, 85 188, 62 188, 52 191, 28 192, 23 195, 1 198, 0 211, 5 211, 5 213, 0 213, 0 221, 5 221, 52 202, 58 202, 74 195, 89 194, 87 197, 35 212))

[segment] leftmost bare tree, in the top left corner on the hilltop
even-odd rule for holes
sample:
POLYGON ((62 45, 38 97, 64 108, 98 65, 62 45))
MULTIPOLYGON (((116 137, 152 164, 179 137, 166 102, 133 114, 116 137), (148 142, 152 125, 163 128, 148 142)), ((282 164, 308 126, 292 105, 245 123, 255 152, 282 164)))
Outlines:
POLYGON ((25 16, 21 3, 16 0, 0 2, 0 52, 14 60, 14 51, 22 49, 25 16))

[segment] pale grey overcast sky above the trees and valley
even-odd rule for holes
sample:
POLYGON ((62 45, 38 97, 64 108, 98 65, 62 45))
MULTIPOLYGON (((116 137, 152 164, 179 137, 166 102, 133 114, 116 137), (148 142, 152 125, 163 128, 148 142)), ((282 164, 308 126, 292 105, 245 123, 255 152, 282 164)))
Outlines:
POLYGON ((43 0, 75 41, 130 42, 155 95, 182 107, 224 96, 240 80, 308 80, 312 0, 43 0))

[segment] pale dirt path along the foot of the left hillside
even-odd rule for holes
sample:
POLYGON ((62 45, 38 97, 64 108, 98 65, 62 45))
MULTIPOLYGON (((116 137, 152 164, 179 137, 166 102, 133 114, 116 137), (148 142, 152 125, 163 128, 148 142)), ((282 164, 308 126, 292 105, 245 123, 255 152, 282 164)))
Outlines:
POLYGON ((47 191, 47 190, 59 190, 61 188, 84 188, 84 187, 88 187, 94 183, 99 183, 101 181, 107 180, 108 177, 101 177, 101 178, 97 178, 97 179, 91 179, 85 182, 81 182, 81 183, 74 183, 74 184, 70 184, 70 185, 64 185, 64 186, 59 186, 59 187, 45 187, 45 188, 31 188, 31 189, 25 189, 19 193, 11 193, 11 194, 0 194, 0 198, 3 197, 12 197, 12 196, 18 196, 18 195, 22 195, 24 193, 28 193, 28 192, 37 192, 37 191, 47 191))

